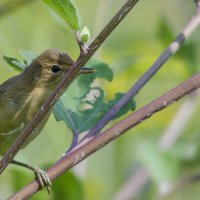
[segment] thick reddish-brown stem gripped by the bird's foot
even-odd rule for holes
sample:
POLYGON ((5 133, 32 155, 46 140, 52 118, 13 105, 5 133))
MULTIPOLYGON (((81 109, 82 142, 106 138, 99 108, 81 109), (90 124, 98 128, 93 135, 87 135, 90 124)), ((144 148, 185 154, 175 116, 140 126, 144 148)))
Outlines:
MULTIPOLYGON (((47 170, 47 174, 51 180, 54 180, 65 171, 69 170, 92 153, 96 152, 112 140, 116 139, 129 129, 140 124, 156 112, 163 110, 167 106, 171 105, 175 101, 183 98, 185 95, 193 92, 200 87, 200 73, 190 78, 188 81, 180 84, 176 88, 165 93, 161 97, 140 108, 136 112, 132 113, 116 125, 112 126, 102 134, 97 135, 95 138, 90 139, 78 149, 70 152, 60 159, 56 164, 47 170)), ((36 193, 39 190, 37 181, 33 181, 23 189, 18 191, 10 200, 14 199, 26 199, 36 193)))

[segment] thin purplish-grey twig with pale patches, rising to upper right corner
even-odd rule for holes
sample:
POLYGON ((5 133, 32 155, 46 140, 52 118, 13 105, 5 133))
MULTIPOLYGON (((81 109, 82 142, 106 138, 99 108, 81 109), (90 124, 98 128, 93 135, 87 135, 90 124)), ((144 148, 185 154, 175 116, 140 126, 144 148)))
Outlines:
MULTIPOLYGON (((184 41, 197 29, 200 24, 200 12, 199 7, 196 7, 196 14, 192 17, 190 22, 181 31, 181 33, 176 37, 176 39, 169 45, 169 47, 159 56, 159 58, 153 63, 153 65, 138 79, 138 81, 129 89, 129 91, 99 120, 93 128, 87 133, 87 135, 81 140, 88 137, 97 135, 101 129, 108 124, 117 112, 139 91, 143 86, 150 80, 150 78, 155 75, 155 73, 163 66, 166 61, 171 58, 184 43, 184 41)), ((80 141, 80 142, 81 142, 80 141)))

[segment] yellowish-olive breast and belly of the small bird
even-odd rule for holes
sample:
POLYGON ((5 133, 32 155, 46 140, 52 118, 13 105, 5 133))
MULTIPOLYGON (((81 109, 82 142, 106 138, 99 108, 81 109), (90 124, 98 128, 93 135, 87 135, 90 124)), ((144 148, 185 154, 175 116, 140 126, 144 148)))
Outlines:
MULTIPOLYGON (((0 154, 12 145, 28 122, 32 120, 34 115, 40 109, 45 99, 49 96, 50 91, 35 88, 28 95, 18 96, 16 98, 8 98, 3 105, 0 105, 0 154)), ((18 94, 19 95, 19 94, 18 94)), ((42 130, 46 124, 51 111, 47 113, 45 118, 35 128, 31 137, 25 143, 30 143, 42 130)))

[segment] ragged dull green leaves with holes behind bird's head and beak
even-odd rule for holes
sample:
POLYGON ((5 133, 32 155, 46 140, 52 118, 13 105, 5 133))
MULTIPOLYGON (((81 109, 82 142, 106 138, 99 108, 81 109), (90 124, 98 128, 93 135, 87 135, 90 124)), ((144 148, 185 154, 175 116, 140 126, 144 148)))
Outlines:
MULTIPOLYGON (((4 56, 4 59, 12 67, 22 70, 36 57, 30 51, 20 51, 24 61, 4 56), (15 61, 15 62, 13 62, 15 61)), ((106 101, 102 88, 93 86, 95 80, 113 80, 113 72, 106 63, 91 60, 85 67, 93 68, 95 73, 80 75, 69 87, 66 93, 53 107, 53 114, 57 121, 64 121, 72 132, 81 133, 89 130, 122 96, 123 93, 115 94, 112 100, 106 101)), ((135 109, 135 102, 128 102, 114 119, 135 109)))

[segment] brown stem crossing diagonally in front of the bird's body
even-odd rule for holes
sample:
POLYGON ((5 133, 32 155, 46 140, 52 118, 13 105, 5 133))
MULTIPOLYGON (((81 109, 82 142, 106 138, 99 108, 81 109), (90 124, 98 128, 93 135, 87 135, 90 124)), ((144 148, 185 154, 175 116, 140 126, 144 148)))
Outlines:
POLYGON ((13 160, 17 152, 24 146, 26 141, 31 137, 31 133, 38 126, 38 124, 45 117, 46 113, 51 109, 53 104, 61 96, 64 90, 70 83, 77 77, 79 70, 87 63, 97 49, 102 45, 110 33, 117 27, 117 25, 124 19, 124 17, 131 11, 139 0, 127 0, 122 8, 110 20, 106 27, 96 37, 96 39, 89 45, 86 54, 81 54, 75 64, 71 67, 70 71, 64 76, 60 84, 57 86, 52 95, 45 101, 44 105, 40 108, 32 121, 22 131, 20 136, 16 139, 13 145, 8 149, 6 154, 0 160, 0 173, 4 171, 7 165, 13 160))

